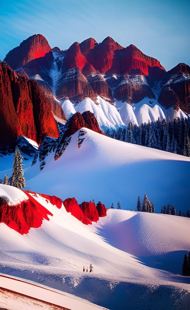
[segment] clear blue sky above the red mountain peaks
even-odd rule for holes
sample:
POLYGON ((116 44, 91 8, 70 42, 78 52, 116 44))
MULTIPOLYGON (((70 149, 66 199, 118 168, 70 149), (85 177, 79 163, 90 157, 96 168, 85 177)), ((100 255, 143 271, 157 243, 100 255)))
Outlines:
POLYGON ((170 70, 190 65, 190 0, 0 0, 0 60, 34 34, 61 50, 110 36, 170 70))

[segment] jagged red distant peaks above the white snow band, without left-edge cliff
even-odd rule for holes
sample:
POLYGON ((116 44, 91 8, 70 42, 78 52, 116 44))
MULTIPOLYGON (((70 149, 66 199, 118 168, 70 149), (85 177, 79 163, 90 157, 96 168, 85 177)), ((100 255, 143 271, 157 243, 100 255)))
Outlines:
POLYGON ((80 102, 100 95, 112 103, 120 100, 132 104, 148 97, 158 99, 164 107, 174 106, 190 113, 188 65, 179 64, 166 72, 157 59, 145 55, 134 45, 124 48, 110 37, 101 43, 89 38, 61 51, 59 48, 49 50, 47 40, 42 35, 34 35, 10 51, 4 60, 14 70, 24 69, 29 77, 40 76, 43 86, 51 87, 58 99, 69 97, 72 102, 80 102), (27 57, 29 42, 33 51, 30 58, 27 57), (18 51, 25 55, 22 66, 20 59, 16 61, 18 51), (133 76, 143 78, 133 83, 133 76))

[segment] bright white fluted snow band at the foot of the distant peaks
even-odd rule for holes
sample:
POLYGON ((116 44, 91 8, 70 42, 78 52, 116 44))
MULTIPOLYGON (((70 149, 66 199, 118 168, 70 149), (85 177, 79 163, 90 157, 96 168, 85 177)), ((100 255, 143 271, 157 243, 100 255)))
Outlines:
POLYGON ((62 103, 62 108, 68 119, 75 112, 90 111, 94 113, 98 124, 102 130, 106 128, 116 129, 117 126, 126 125, 129 122, 140 125, 148 123, 148 121, 156 121, 160 119, 187 118, 187 114, 181 109, 174 110, 173 107, 165 109, 156 99, 144 98, 139 103, 129 104, 116 101, 116 106, 108 103, 106 100, 97 96, 96 103, 90 98, 85 98, 80 103, 74 105, 66 99, 62 103))

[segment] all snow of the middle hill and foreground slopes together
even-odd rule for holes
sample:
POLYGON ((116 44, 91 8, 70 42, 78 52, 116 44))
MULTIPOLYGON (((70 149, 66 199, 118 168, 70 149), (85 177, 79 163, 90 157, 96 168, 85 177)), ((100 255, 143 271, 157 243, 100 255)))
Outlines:
MULTIPOLYGON (((178 210, 190 209, 190 157, 86 128, 71 136, 57 160, 55 152, 43 157, 42 170, 40 157, 32 166, 24 157, 27 189, 115 208, 85 225, 63 205, 59 209, 31 192, 53 215, 24 235, 0 223, 0 308, 189 310, 190 277, 182 276, 182 265, 190 251, 190 218, 132 210, 145 193, 157 212, 169 200, 178 210), (116 208, 118 201, 122 209, 116 208), (6 282, 4 275, 10 276, 6 282)), ((12 155, 0 159, 2 179, 11 175, 12 160, 12 155)), ((9 205, 27 199, 23 191, 2 184, 0 197, 9 205)))

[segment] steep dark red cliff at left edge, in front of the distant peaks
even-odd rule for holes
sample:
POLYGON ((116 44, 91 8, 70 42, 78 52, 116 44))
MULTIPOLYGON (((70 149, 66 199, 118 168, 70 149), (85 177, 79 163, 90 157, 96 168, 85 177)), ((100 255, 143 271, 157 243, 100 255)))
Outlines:
POLYGON ((48 135, 59 137, 52 103, 35 80, 0 62, 0 145, 13 146, 23 135, 41 143, 48 135))

